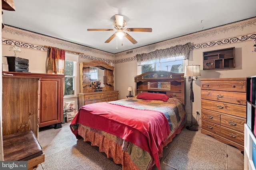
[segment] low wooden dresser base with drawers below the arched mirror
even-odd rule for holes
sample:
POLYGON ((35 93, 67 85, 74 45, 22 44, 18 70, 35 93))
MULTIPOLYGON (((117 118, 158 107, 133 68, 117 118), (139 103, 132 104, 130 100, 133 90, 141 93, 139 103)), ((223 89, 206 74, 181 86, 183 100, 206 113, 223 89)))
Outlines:
POLYGON ((118 91, 106 91, 106 92, 88 92, 78 94, 78 107, 98 103, 98 102, 110 102, 118 100, 118 91))

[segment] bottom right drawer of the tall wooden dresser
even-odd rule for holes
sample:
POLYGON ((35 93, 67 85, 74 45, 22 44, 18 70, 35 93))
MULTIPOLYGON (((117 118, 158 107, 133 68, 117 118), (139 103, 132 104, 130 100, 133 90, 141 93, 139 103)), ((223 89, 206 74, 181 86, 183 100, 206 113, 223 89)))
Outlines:
POLYGON ((221 136, 229 139, 230 141, 234 141, 244 146, 244 133, 234 131, 232 129, 228 129, 226 127, 220 127, 221 136))

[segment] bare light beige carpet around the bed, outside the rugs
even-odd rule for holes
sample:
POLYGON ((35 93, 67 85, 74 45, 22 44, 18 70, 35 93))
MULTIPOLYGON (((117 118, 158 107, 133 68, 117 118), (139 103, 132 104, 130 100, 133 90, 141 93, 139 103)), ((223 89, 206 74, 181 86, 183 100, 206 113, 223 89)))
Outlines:
MULTIPOLYGON (((70 123, 62 124, 62 128, 59 128, 59 129, 54 129, 53 128, 54 126, 40 128, 39 143, 44 149, 46 161, 48 161, 48 158, 50 158, 48 156, 55 154, 59 158, 59 160, 64 160, 65 163, 68 162, 70 159, 71 159, 70 162, 72 162, 72 156, 67 158, 66 152, 64 151, 64 149, 71 149, 72 146, 77 146, 76 144, 78 143, 81 143, 81 144, 85 143, 84 141, 82 141, 82 139, 76 139, 74 134, 71 132, 69 125, 70 123), (64 154, 60 154, 60 152, 62 151, 64 152, 64 154)), ((183 136, 183 134, 190 134, 193 136, 193 138, 200 137, 210 141, 217 141, 216 139, 208 135, 202 134, 200 128, 198 131, 189 131, 186 128, 183 128, 181 133, 179 135, 176 135, 173 141, 168 144, 168 148, 164 148, 163 157, 160 159, 161 170, 174 170, 174 168, 164 164, 163 160, 170 153, 170 151, 173 149, 176 143, 178 143, 178 141, 181 141, 180 139, 183 136)), ((200 146, 204 144, 205 144, 204 141, 200 142, 200 146)), ((97 147, 91 147, 91 148, 97 150, 97 147)), ((241 152, 238 149, 230 145, 226 145, 226 150, 227 150, 226 159, 227 159, 228 170, 243 170, 244 169, 243 154, 241 154, 241 152)), ((100 153, 100 154, 104 155, 103 153, 100 153)), ((52 160, 54 159, 51 159, 51 161, 52 160)), ((96 160, 98 159, 96 158, 96 160)), ((105 162, 104 160, 105 159, 98 160, 97 164, 101 164, 102 162, 105 162)), ((198 162, 201 162, 201 161, 202 159, 198 160, 198 162)), ((182 164, 181 161, 180 163, 182 164)), ((70 170, 65 164, 61 164, 60 166, 62 170, 70 170)), ((39 164, 36 170, 44 170, 44 168, 41 166, 41 164, 39 164)), ((113 170, 113 169, 105 169, 105 170, 113 170)), ((156 166, 153 166, 152 170, 157 170, 156 166)))

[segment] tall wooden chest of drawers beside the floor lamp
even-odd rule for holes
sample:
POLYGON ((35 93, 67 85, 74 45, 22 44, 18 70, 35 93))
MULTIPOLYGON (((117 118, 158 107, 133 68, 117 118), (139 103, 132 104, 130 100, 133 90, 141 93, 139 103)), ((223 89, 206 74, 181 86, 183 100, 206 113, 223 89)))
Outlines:
POLYGON ((246 78, 202 78, 200 81, 201 132, 243 151, 246 78))

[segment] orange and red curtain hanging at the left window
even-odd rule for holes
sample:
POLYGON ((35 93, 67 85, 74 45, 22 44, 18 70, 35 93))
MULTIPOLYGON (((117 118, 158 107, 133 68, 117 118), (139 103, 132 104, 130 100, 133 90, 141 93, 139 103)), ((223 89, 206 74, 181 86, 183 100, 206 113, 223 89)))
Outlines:
POLYGON ((64 74, 65 50, 49 48, 48 74, 64 74))

